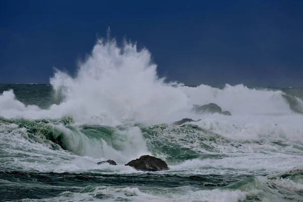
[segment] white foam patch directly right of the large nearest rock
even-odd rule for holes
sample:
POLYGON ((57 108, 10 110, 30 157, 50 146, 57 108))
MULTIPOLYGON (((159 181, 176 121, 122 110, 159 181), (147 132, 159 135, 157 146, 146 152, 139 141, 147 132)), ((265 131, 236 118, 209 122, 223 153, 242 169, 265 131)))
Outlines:
POLYGON ((237 174, 266 175, 280 173, 301 165, 301 155, 246 154, 222 159, 193 159, 170 166, 172 171, 185 174, 237 174))

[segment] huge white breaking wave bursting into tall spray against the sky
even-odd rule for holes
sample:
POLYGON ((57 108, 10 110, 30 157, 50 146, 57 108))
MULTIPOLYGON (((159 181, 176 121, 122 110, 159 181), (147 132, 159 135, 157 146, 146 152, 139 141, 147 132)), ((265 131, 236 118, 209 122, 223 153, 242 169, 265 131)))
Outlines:
POLYGON ((171 123, 190 113, 192 105, 216 103, 233 115, 289 115, 303 112, 300 98, 279 90, 249 89, 242 84, 223 89, 165 82, 157 76, 150 53, 135 43, 122 47, 100 39, 83 62, 76 77, 56 70, 51 84, 58 105, 41 110, 25 106, 12 90, 0 95, 0 116, 5 118, 61 118, 72 116, 80 123, 117 125, 134 120, 147 125, 171 123))

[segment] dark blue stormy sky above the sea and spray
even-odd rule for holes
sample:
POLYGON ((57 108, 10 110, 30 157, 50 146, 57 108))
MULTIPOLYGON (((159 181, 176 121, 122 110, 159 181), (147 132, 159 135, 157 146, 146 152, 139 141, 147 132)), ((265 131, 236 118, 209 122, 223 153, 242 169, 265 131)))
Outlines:
POLYGON ((0 1, 0 83, 74 74, 98 37, 146 47, 188 85, 303 87, 303 1, 0 1))

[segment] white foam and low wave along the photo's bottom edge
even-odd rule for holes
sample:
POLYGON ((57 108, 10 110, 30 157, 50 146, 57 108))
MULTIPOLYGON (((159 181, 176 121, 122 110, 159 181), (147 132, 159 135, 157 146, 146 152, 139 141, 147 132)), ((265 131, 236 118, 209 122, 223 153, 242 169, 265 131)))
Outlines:
POLYGON ((201 190, 192 186, 159 188, 86 186, 46 199, 21 201, 300 201, 302 183, 291 179, 257 176, 231 183, 225 188, 201 190))

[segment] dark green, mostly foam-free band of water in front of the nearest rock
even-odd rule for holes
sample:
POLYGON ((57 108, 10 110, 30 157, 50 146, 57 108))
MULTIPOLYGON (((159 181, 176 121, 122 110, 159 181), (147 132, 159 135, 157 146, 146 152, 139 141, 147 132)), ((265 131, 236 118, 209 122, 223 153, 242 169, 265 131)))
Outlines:
POLYGON ((219 175, 174 175, 174 174, 101 174, 101 173, 33 173, 33 172, 0 172, 3 186, 0 188, 2 198, 7 200, 21 198, 55 197, 64 191, 93 193, 98 186, 128 187, 136 182, 135 187, 150 191, 150 187, 178 189, 191 187, 192 190, 211 190, 221 188, 239 179, 233 176, 219 175), (17 189, 16 189, 17 188, 17 189), (149 189, 149 190, 148 190, 149 189), (43 193, 43 194, 42 194, 43 193))

